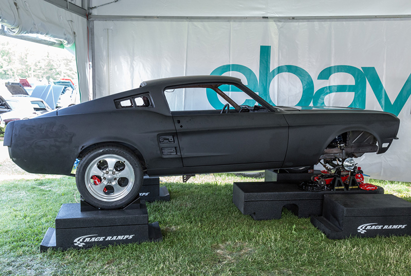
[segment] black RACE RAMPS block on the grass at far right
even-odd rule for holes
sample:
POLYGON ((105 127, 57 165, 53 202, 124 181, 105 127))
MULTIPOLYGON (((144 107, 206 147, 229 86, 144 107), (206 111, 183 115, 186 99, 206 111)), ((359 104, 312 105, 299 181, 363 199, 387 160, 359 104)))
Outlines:
POLYGON ((327 194, 311 223, 329 239, 411 234, 411 203, 392 194, 327 194))

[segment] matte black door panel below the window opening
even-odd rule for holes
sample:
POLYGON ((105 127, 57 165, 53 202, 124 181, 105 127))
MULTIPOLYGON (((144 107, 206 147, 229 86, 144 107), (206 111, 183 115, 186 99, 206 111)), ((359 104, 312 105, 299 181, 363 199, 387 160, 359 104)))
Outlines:
POLYGON ((176 112, 173 120, 184 167, 284 161, 288 124, 279 112, 176 112))

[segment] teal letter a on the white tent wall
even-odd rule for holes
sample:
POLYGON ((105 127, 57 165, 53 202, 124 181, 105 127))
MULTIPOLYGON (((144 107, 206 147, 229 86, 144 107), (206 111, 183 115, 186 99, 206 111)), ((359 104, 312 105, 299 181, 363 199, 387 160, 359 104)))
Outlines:
POLYGON ((347 73, 354 77, 354 85, 330 85, 317 90, 312 99, 313 106, 325 106, 324 98, 331 93, 354 92, 354 99, 348 107, 365 108, 367 81, 364 73, 353 66, 336 65, 325 68, 318 75, 318 80, 328 80, 334 73, 347 73))

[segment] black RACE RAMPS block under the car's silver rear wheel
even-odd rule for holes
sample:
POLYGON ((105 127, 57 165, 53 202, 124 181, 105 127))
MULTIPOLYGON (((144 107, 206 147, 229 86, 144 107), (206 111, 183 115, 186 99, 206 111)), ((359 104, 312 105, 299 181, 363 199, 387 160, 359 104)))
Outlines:
POLYGON ((143 203, 135 202, 126 209, 116 210, 92 209, 84 203, 74 203, 62 205, 55 219, 55 229, 47 230, 40 251, 161 240, 159 224, 148 223, 143 203))

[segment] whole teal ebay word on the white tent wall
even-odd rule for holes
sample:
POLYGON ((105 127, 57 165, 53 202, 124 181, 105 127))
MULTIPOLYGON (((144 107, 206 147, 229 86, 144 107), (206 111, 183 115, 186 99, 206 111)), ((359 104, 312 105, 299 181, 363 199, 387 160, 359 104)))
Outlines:
MULTIPOLYGON (((329 85, 314 92, 314 82, 311 75, 301 67, 294 65, 281 65, 270 71, 271 46, 260 46, 259 74, 256 74, 248 67, 239 64, 227 64, 216 68, 211 75, 222 75, 227 72, 239 72, 247 79, 247 87, 258 93, 268 103, 274 105, 270 98, 269 87, 274 77, 281 73, 291 73, 296 75, 302 85, 303 92, 300 101, 296 106, 325 106, 325 96, 331 93, 354 93, 352 103, 348 107, 365 109, 367 81, 377 98, 383 111, 393 113, 398 116, 409 96, 411 95, 411 74, 400 90, 394 102, 391 102, 387 92, 381 82, 375 67, 353 67, 349 65, 334 65, 325 68, 317 76, 317 80, 329 80, 335 73, 350 74, 355 81, 353 85, 329 85)), ((207 89, 207 98, 215 109, 222 109, 223 104, 211 89, 207 89)), ((254 106, 255 101, 248 99, 242 105, 254 106)))

